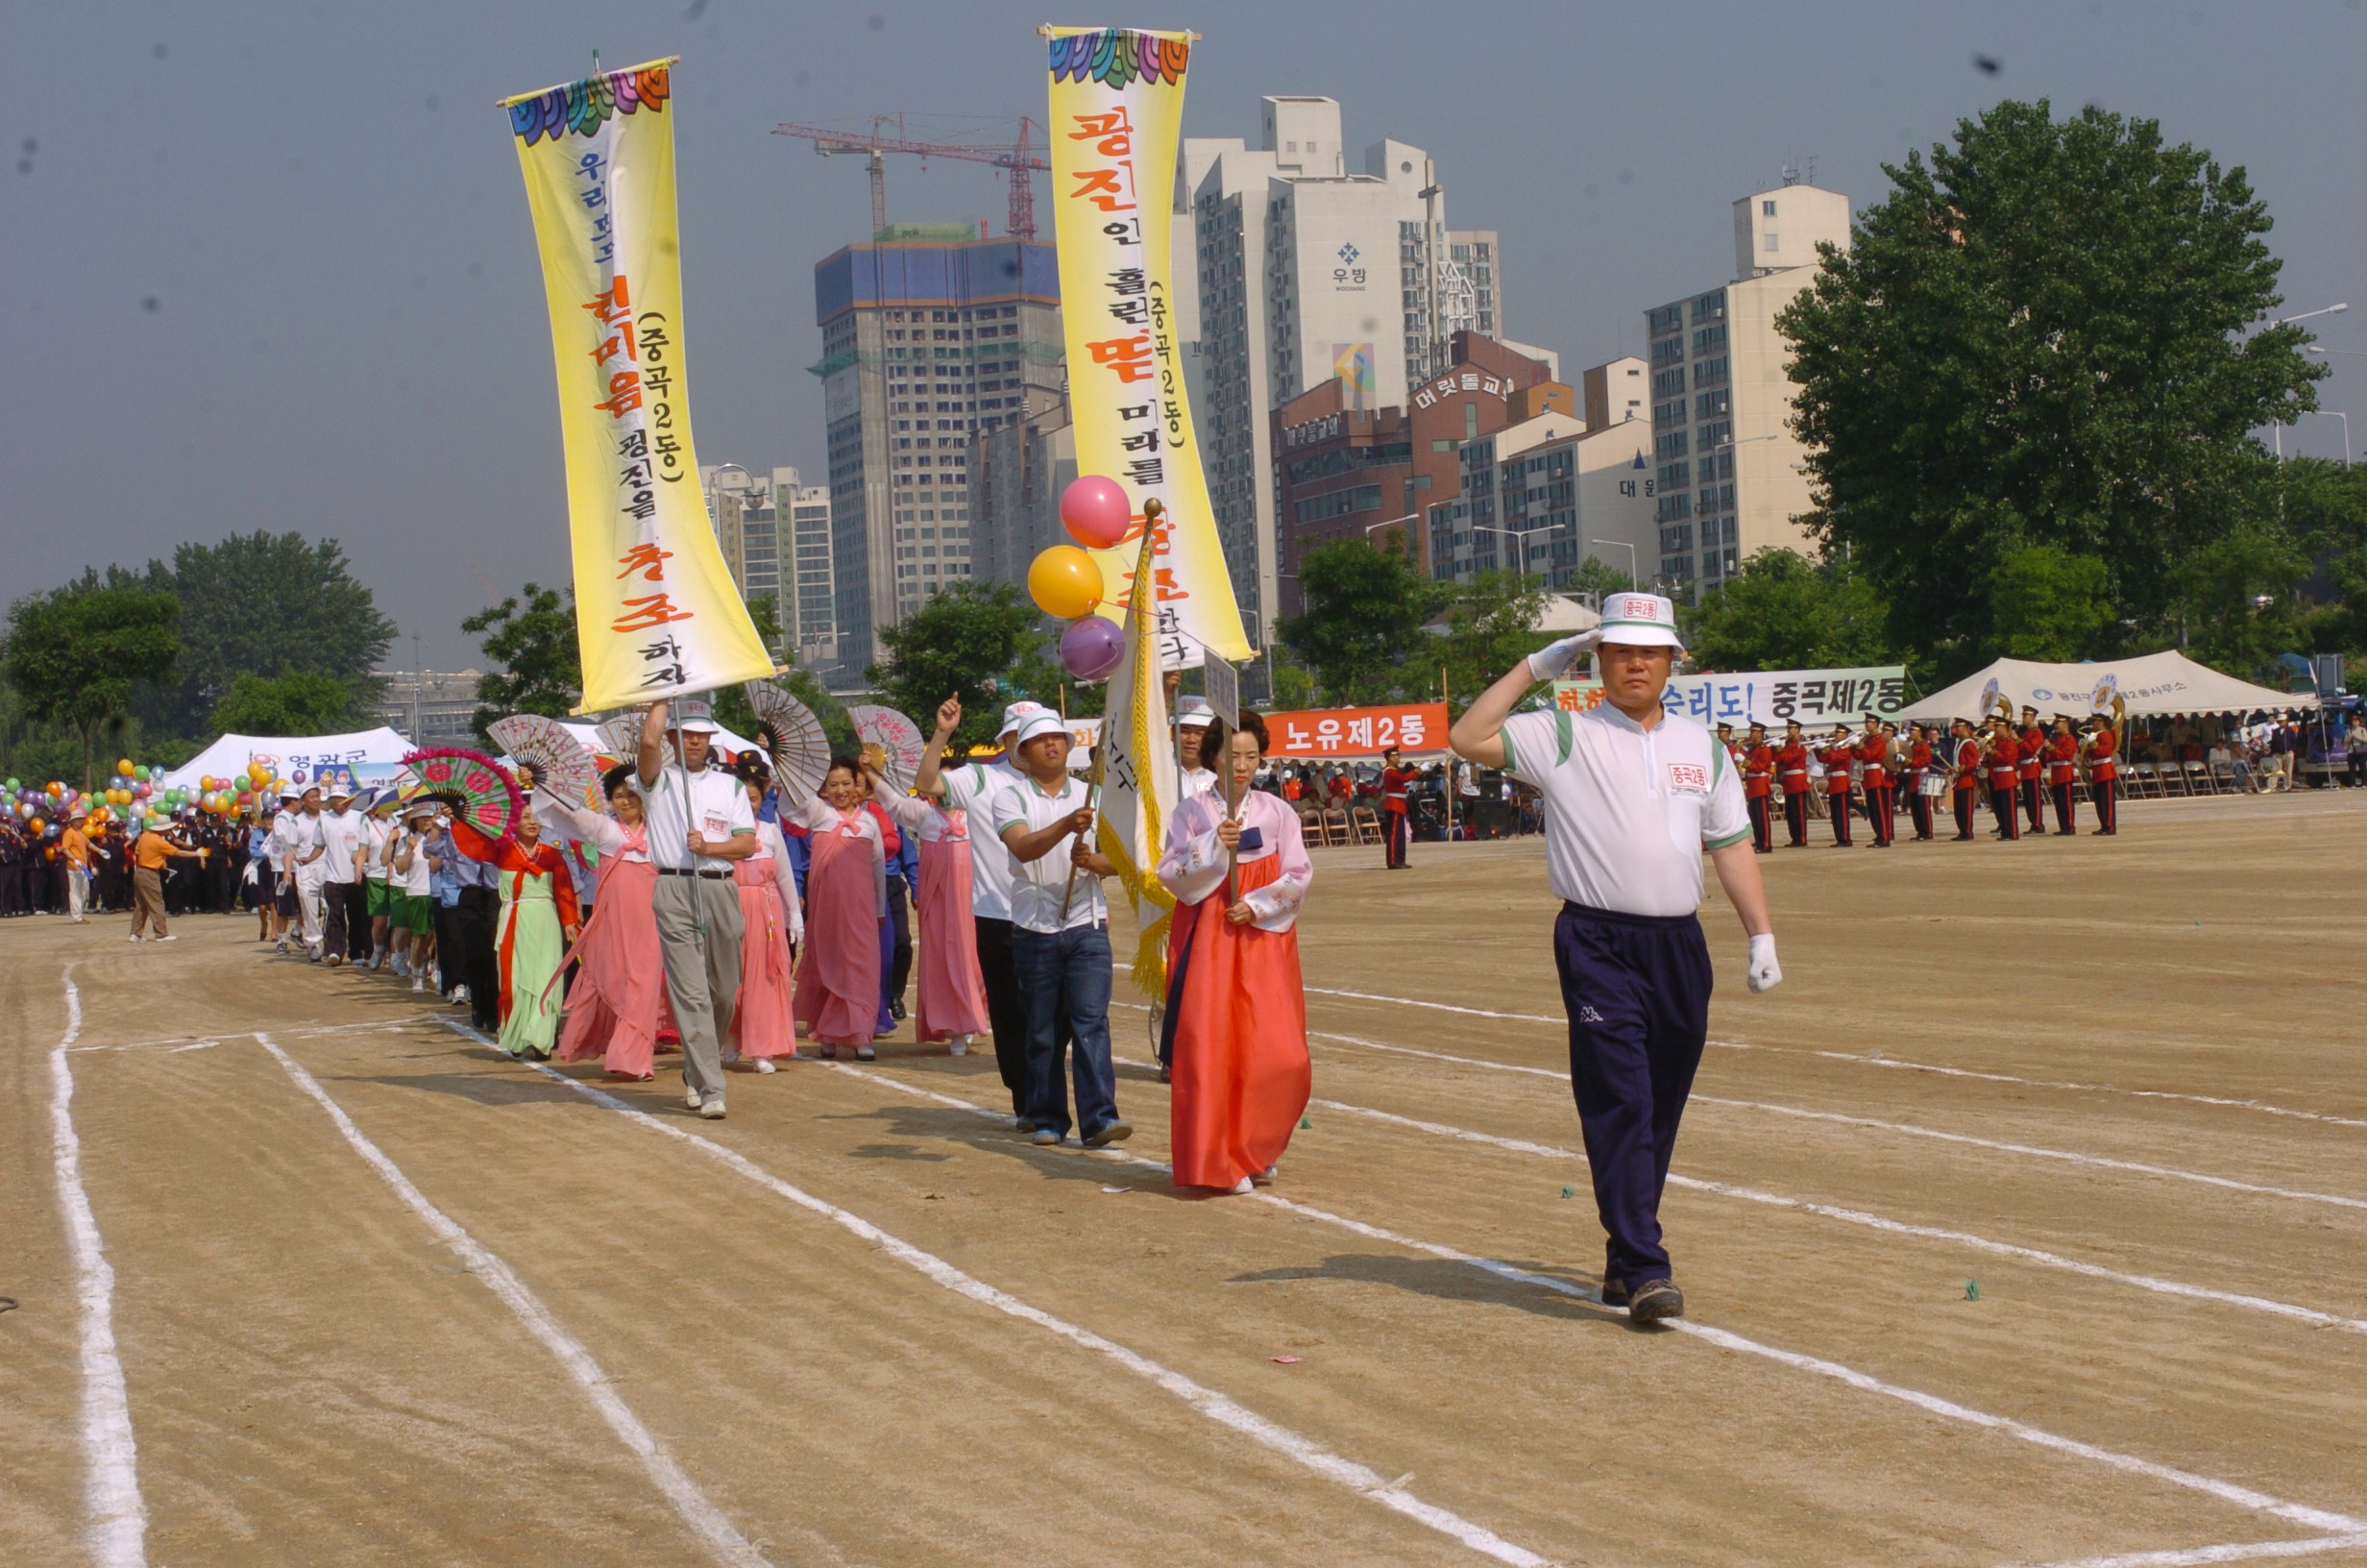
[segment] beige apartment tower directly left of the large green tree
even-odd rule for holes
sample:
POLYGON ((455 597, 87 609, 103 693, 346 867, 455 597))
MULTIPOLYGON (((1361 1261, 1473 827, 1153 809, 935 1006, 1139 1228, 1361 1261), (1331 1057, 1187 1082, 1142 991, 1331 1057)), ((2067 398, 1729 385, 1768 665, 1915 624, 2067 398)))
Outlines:
POLYGON ((1792 351, 1775 317, 1818 244, 1849 246, 1849 197, 1782 185, 1735 201, 1735 282, 1645 313, 1664 587, 1718 587, 1768 545, 1801 550, 1808 452, 1792 436, 1792 351))

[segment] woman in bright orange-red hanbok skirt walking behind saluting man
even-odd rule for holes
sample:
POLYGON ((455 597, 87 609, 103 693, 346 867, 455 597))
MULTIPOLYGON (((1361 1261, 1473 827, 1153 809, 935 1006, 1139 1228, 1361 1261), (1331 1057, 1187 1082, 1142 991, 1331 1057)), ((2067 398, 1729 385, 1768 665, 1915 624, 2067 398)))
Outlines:
POLYGON ((1210 725, 1200 756, 1224 758, 1238 805, 1226 817, 1224 791, 1210 789, 1167 820, 1160 881, 1176 895, 1181 936, 1160 1045, 1174 1054, 1176 1187, 1243 1194, 1273 1180, 1307 1111, 1307 992, 1292 926, 1316 872, 1297 812, 1250 789, 1266 756, 1264 720, 1243 713, 1236 732, 1210 725))

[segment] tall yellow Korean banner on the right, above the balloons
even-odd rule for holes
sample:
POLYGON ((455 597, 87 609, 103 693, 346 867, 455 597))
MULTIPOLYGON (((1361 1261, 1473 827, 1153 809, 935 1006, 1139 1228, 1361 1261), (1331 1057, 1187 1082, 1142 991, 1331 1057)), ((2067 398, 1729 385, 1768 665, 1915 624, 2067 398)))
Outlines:
MULTIPOLYGON (((1051 199, 1077 471, 1115 478, 1134 516, 1157 500, 1153 580, 1162 668, 1247 658, 1184 396, 1167 239, 1191 33, 1044 28, 1051 199)), ((1139 538, 1139 535, 1136 535, 1139 538)), ((1094 552, 1131 604, 1134 538, 1094 552)))

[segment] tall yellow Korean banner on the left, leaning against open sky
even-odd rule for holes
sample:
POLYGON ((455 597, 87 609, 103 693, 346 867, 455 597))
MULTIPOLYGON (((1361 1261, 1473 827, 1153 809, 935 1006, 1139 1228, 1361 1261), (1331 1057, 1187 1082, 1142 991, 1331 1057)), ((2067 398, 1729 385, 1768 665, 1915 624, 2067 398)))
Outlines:
POLYGON ((772 675, 691 452, 667 66, 504 104, 559 362, 582 711, 772 675))

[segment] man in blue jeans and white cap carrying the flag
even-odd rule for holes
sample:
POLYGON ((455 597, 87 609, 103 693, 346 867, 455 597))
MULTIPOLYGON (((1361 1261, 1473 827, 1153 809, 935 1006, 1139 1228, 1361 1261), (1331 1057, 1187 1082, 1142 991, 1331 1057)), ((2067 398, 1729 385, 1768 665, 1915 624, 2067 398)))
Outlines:
POLYGON ((1032 1142, 1068 1137, 1060 1082, 1063 1026, 1075 1037, 1070 1078, 1086 1149, 1134 1135, 1117 1116, 1110 1068, 1110 910, 1101 879, 1117 867, 1094 850, 1091 789, 1068 772, 1068 722, 1034 713, 1018 730, 1020 777, 987 801, 994 834, 1011 848, 1011 969, 1027 1009, 1027 1082, 1020 1116, 1032 1142), (1060 843, 1065 853, 1053 853, 1060 843))

